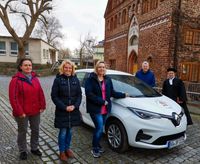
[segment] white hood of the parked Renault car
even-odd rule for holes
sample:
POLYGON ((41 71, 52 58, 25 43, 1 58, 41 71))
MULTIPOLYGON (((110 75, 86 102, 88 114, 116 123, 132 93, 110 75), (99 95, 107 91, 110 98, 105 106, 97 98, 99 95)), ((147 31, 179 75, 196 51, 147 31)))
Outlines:
POLYGON ((177 114, 181 113, 181 106, 164 95, 152 98, 127 97, 125 99, 115 99, 114 101, 124 107, 133 107, 164 115, 171 115, 172 112, 176 112, 177 114))

